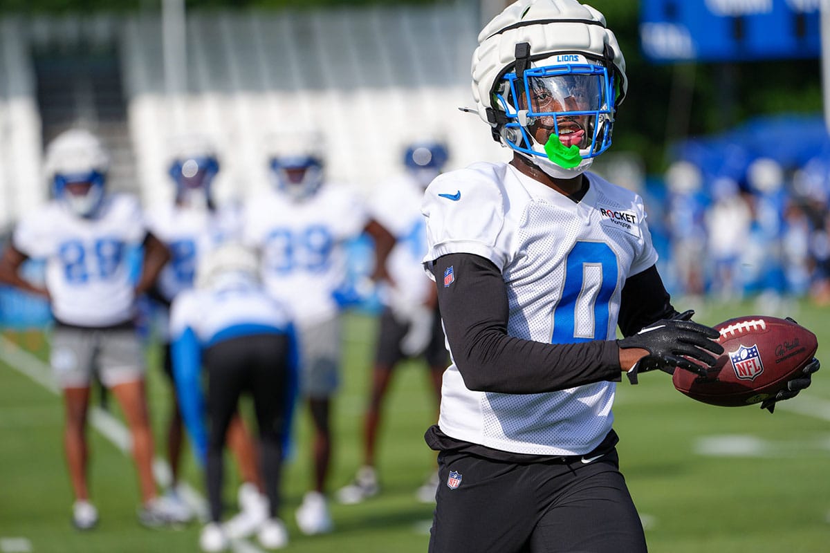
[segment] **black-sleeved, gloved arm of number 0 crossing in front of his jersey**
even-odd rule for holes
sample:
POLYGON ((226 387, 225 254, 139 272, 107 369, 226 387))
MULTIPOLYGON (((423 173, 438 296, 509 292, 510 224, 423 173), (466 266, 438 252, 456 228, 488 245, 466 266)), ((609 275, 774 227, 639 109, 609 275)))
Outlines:
MULTIPOLYGON (((720 347, 710 341, 716 331, 691 321, 666 323, 647 337, 628 338, 630 342, 551 344, 510 337, 507 290, 495 264, 478 255, 451 254, 438 258, 432 271, 452 357, 471 390, 531 394, 617 381, 620 371, 644 358, 677 366, 680 361, 675 357, 688 355, 711 366, 715 357, 701 347, 720 347), (443 274, 450 266, 455 278, 444 286, 443 274)), ((686 363, 701 370, 691 361, 686 363)))

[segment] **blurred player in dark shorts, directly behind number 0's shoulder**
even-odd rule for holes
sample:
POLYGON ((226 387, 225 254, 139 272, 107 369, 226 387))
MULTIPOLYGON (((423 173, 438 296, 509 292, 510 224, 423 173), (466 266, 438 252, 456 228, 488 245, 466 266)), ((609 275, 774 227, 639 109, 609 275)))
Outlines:
MULTIPOLYGON (((399 362, 422 357, 427 362, 436 405, 441 400, 447 348, 435 286, 423 274, 421 264, 427 251, 427 230, 420 205, 424 190, 447 163, 447 155, 444 143, 435 140, 413 143, 403 155, 406 174, 379 186, 370 204, 375 219, 396 238, 387 260, 393 284, 385 286, 381 295, 384 307, 378 327, 369 405, 364 415, 363 466, 354 481, 338 491, 337 498, 342 503, 361 502, 380 490, 375 467, 378 427, 382 421, 383 398, 399 362)), ((436 488, 437 473, 419 488, 418 497, 432 502, 436 488)))

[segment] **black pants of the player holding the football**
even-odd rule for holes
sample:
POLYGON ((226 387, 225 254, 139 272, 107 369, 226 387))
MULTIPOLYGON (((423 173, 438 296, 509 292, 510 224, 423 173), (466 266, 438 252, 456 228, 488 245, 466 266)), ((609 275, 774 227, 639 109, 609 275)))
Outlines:
POLYGON ((617 450, 584 459, 510 463, 442 451, 429 553, 647 551, 617 450))

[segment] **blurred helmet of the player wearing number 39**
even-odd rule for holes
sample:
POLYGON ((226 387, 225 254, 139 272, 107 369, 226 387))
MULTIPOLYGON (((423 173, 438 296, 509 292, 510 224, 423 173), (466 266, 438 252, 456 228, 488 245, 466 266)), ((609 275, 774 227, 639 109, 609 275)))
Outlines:
POLYGON ((322 135, 310 129, 286 130, 268 140, 268 167, 276 188, 302 201, 323 185, 322 135))

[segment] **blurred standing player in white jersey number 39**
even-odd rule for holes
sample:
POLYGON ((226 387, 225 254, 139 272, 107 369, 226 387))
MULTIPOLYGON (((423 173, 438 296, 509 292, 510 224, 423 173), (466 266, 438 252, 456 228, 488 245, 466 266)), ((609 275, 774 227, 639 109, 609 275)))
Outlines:
POLYGON ((374 238, 376 279, 394 238, 369 217, 356 193, 325 182, 319 133, 281 133, 269 158, 274 189, 249 201, 247 243, 261 248, 262 279, 291 308, 300 343, 300 392, 314 425, 314 489, 296 513, 305 534, 331 531, 325 497, 331 457, 330 406, 339 384, 340 323, 334 291, 343 282, 344 242, 366 231, 374 238))

